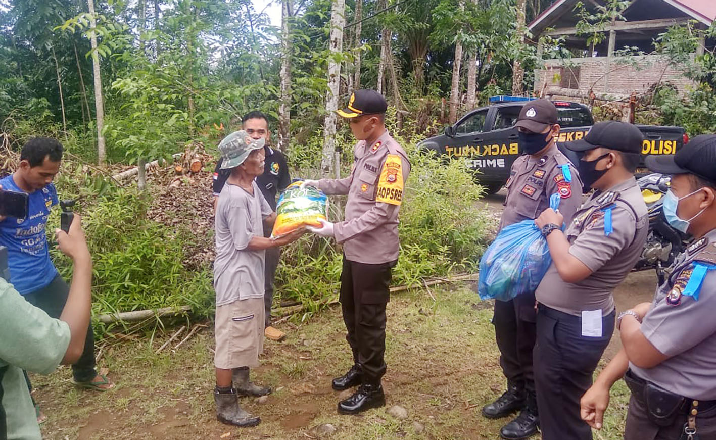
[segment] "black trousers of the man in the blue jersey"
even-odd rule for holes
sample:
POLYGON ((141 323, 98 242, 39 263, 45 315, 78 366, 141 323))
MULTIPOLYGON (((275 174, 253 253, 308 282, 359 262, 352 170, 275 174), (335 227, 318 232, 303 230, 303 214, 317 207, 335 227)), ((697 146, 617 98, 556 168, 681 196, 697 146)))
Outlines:
MULTIPOLYGON (((68 295, 69 285, 61 276, 57 275, 52 283, 24 295, 24 298, 35 307, 42 308, 51 318, 59 318, 64 304, 67 303, 68 295)), ((72 365, 72 376, 78 382, 91 381, 97 376, 97 371, 95 371, 95 334, 92 332, 92 321, 89 321, 82 356, 79 357, 77 363, 72 365)))

